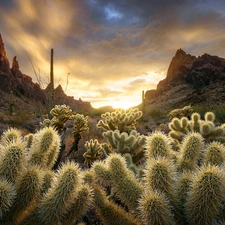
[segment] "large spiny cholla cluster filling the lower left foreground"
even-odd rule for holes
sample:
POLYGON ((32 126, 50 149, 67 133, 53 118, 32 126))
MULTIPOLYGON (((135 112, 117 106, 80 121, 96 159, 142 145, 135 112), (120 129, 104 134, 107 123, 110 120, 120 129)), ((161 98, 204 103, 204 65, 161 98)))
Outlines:
POLYGON ((44 128, 30 149, 21 140, 0 143, 0 224, 73 225, 88 210, 92 189, 78 165, 50 170, 59 142, 53 128, 44 128))

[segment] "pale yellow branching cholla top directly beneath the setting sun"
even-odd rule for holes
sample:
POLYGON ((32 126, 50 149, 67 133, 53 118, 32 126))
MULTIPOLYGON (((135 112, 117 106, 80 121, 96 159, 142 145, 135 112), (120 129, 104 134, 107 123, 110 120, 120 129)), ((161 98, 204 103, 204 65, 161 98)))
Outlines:
POLYGON ((97 124, 98 127, 105 130, 119 130, 120 132, 130 132, 135 129, 136 121, 142 116, 142 112, 138 109, 116 110, 115 112, 107 112, 102 114, 103 120, 97 124))

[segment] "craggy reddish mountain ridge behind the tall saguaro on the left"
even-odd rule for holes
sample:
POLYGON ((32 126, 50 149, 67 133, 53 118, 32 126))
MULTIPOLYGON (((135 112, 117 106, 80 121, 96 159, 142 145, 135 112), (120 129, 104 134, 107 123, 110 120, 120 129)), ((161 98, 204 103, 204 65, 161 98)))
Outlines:
MULTIPOLYGON (((89 102, 81 99, 75 100, 71 96, 67 96, 61 85, 55 90, 55 104, 66 104, 73 110, 90 110, 92 109, 89 102)), ((32 78, 23 74, 19 68, 19 62, 16 56, 12 60, 10 68, 9 60, 6 56, 6 50, 0 34, 0 112, 9 110, 11 100, 13 98, 14 108, 16 112, 45 112, 49 103, 49 87, 41 89, 40 85, 34 83, 32 78)))

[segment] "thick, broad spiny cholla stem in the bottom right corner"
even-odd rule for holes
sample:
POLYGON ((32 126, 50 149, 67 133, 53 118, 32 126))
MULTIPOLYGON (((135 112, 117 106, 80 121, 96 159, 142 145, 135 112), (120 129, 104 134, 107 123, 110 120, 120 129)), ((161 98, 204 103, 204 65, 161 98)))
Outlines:
POLYGON ((203 166, 196 174, 187 197, 186 214, 190 224, 211 225, 225 201, 225 175, 216 166, 203 166))

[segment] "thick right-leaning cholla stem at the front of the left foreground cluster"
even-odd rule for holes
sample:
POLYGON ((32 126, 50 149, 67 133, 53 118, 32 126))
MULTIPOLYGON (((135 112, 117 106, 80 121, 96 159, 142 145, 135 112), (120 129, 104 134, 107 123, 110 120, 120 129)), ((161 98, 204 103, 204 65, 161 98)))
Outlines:
POLYGON ((58 224, 63 219, 77 195, 76 189, 81 183, 79 173, 80 169, 74 163, 67 163, 59 169, 57 179, 53 180, 38 206, 39 224, 58 224))

